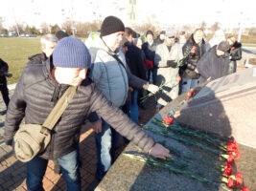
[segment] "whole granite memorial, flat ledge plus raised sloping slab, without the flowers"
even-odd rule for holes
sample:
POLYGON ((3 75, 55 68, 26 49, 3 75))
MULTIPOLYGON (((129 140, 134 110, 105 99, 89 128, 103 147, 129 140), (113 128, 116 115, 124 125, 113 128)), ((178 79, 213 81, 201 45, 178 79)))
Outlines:
MULTIPOLYGON (((252 146, 245 146, 245 143, 253 145, 254 132, 251 132, 251 137, 248 135, 248 140, 244 140, 243 136, 238 135, 238 133, 241 133, 241 129, 244 129, 244 136, 247 136, 246 134, 248 134, 249 131, 249 129, 246 127, 247 123, 244 122, 244 125, 241 127, 241 129, 239 129, 239 127, 235 124, 230 124, 230 121, 234 122, 234 120, 229 118, 230 114, 233 113, 228 107, 238 107, 233 109, 233 115, 235 115, 235 117, 238 117, 238 119, 235 120, 237 123, 240 122, 240 120, 243 121, 243 118, 239 119, 240 115, 245 117, 245 110, 243 109, 244 111, 240 111, 241 108, 254 108, 254 104, 249 104, 250 102, 255 100, 251 97, 253 94, 255 95, 256 79, 254 78, 254 76, 256 76, 255 70, 249 70, 244 72, 241 71, 241 73, 229 75, 219 80, 212 81, 205 86, 200 85, 198 86, 198 95, 192 97, 187 104, 181 107, 181 111, 176 113, 177 121, 184 124, 184 126, 201 129, 204 132, 208 132, 209 135, 217 134, 221 137, 234 136, 236 138, 239 138, 240 140, 243 140, 243 144, 240 144, 241 157, 239 160, 235 160, 235 162, 232 164, 232 169, 235 173, 237 171, 241 171, 244 177, 244 185, 247 186, 250 191, 256 191, 256 181, 254 179, 254 177, 256 176, 256 149, 254 149, 252 146), (243 98, 248 98, 249 100, 244 102, 245 100, 243 98), (234 104, 231 101, 230 103, 229 99, 237 100, 238 102, 240 102, 234 104), (208 107, 210 108, 211 112, 207 110, 208 107), (194 117, 194 119, 191 119, 190 117, 194 117), (238 130, 236 130, 235 128, 238 128, 238 130)), ((178 106, 181 100, 184 100, 185 96, 186 94, 178 96, 154 117, 160 119, 166 117, 167 114, 170 113, 170 111, 178 106)), ((250 118, 250 115, 253 115, 253 112, 254 110, 251 111, 251 114, 247 114, 247 117, 250 118)), ((153 117, 146 125, 159 130, 159 127, 153 124, 152 120, 153 117)), ((249 127, 253 129, 253 125, 251 125, 250 123, 249 125, 249 127)), ((197 146, 182 144, 175 139, 164 138, 160 135, 153 134, 151 131, 145 131, 156 141, 165 141, 167 146, 173 146, 179 151, 193 154, 201 159, 212 161, 214 163, 220 162, 219 156, 198 149, 197 146)), ((133 143, 129 143, 123 154, 124 153, 137 154, 141 153, 141 150, 133 143)), ((158 160, 161 161, 161 159, 158 160)), ((209 180, 215 180, 216 178, 218 179, 218 176, 213 178, 212 173, 216 172, 211 169, 208 164, 193 160, 189 162, 190 165, 187 167, 186 170, 197 174, 201 178, 209 180)), ((95 190, 223 191, 226 189, 222 188, 221 183, 213 184, 209 182, 195 180, 189 176, 180 173, 174 173, 171 170, 167 170, 161 167, 148 166, 145 162, 138 161, 136 159, 128 159, 121 154, 105 175, 104 180, 100 182, 95 190)))

